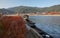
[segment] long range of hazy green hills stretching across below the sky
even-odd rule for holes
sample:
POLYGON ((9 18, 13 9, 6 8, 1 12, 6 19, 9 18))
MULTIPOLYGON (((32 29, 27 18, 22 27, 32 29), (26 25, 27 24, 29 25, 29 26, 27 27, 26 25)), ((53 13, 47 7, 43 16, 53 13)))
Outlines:
POLYGON ((29 6, 17 6, 17 7, 12 7, 8 9, 0 9, 0 12, 8 12, 9 14, 14 14, 16 12, 18 13, 42 13, 42 12, 60 12, 60 5, 54 5, 50 7, 44 7, 44 8, 39 8, 39 7, 29 7, 29 6))

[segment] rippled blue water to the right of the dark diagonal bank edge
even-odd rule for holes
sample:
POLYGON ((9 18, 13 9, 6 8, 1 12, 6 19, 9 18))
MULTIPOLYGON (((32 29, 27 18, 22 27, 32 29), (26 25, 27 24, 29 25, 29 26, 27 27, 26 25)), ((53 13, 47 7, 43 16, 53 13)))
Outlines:
POLYGON ((30 16, 30 20, 54 38, 60 38, 60 16, 30 16))

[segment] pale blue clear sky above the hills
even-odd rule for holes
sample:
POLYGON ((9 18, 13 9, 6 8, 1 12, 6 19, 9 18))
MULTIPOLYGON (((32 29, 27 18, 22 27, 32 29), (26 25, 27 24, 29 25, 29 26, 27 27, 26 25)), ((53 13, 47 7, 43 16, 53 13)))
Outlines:
POLYGON ((60 0, 0 0, 0 8, 16 6, 49 7, 60 4, 60 0))

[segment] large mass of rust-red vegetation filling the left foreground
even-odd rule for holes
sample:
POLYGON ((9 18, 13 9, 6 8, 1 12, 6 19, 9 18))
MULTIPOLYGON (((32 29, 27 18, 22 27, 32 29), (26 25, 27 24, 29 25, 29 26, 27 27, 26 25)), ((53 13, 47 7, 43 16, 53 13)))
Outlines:
POLYGON ((1 38, 26 38, 27 29, 21 16, 4 16, 0 22, 4 25, 1 38))

